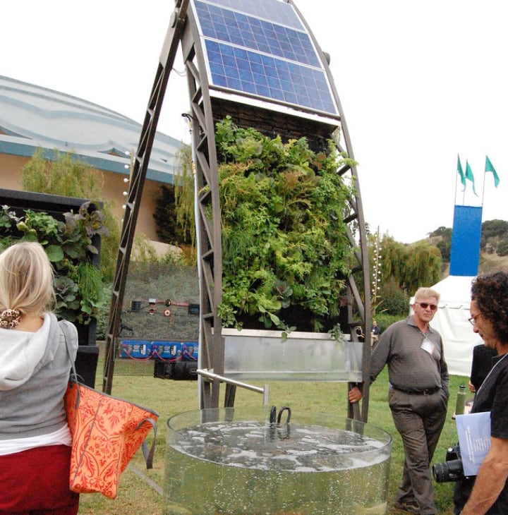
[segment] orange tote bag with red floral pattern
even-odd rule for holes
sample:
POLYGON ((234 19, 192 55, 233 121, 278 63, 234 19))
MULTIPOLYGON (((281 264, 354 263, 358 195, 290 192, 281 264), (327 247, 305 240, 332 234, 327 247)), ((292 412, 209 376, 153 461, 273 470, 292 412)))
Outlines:
POLYGON ((142 445, 147 468, 152 468, 157 412, 81 384, 74 363, 65 406, 73 437, 69 478, 73 492, 100 492, 114 499, 121 473, 142 445), (148 450, 145 438, 152 428, 155 434, 148 450))

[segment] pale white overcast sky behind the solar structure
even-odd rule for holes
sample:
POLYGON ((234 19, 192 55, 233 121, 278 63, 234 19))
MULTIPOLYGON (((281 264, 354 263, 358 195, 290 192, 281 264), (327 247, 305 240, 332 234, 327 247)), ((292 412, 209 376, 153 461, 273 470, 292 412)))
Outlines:
MULTIPOLYGON (((455 201, 508 220, 508 4, 296 0, 325 52, 349 127, 365 220, 411 243, 451 227, 455 201), (456 195, 456 162, 468 182, 456 195), (500 176, 488 174, 485 154, 500 176), (456 199, 456 200, 455 200, 456 199)), ((2 6, 0 75, 143 123, 173 0, 17 0, 2 6)), ((176 64, 176 72, 183 66, 176 64)), ((171 73, 158 129, 188 140, 186 80, 171 73)))

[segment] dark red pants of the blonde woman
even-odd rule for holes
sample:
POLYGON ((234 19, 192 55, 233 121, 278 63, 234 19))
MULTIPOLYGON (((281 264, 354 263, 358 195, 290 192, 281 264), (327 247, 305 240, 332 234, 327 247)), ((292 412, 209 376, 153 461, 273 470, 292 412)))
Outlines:
POLYGON ((71 447, 52 445, 0 456, 0 515, 76 515, 68 487, 71 447))

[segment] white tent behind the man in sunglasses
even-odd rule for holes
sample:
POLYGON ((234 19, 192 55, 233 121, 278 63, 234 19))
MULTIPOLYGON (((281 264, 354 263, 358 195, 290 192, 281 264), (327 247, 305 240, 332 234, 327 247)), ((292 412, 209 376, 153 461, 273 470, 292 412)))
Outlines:
POLYGON ((444 358, 451 375, 466 375, 471 372, 473 347, 483 343, 473 326, 471 317, 471 281, 474 277, 449 275, 432 286, 440 293, 437 313, 430 326, 440 332, 444 341, 444 358))

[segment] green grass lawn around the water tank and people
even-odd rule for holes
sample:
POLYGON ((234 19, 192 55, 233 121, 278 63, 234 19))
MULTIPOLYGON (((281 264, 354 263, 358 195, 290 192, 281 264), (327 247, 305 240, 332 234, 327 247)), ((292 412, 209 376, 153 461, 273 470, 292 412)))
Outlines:
MULTIPOLYGON (((99 388, 102 387, 102 384, 100 384, 101 376, 102 362, 99 362, 97 368, 97 387, 99 388)), ((448 417, 434 462, 444 461, 447 447, 457 440, 452 413, 455 408, 456 392, 459 389, 459 384, 466 382, 466 377, 451 377, 448 417)), ((259 384, 259 386, 262 386, 262 384, 259 384)), ((317 413, 335 413, 345 417, 347 413, 346 387, 345 383, 274 382, 270 384, 270 404, 277 407, 288 405, 292 408, 301 408, 304 411, 317 413)), ((224 389, 223 386, 223 393, 224 389)), ((401 479, 404 452, 388 408, 387 392, 388 375, 385 368, 370 390, 368 422, 384 429, 393 437, 387 513, 402 514, 405 512, 394 509, 393 502, 401 479)), ((164 498, 160 491, 161 488, 164 488, 166 423, 169 417, 177 413, 198 408, 197 382, 161 380, 153 377, 116 376, 114 377, 112 394, 148 406, 159 413, 154 468, 147 471, 143 458, 138 453, 133 459, 132 465, 139 472, 136 473, 131 467, 127 468, 121 477, 118 497, 112 500, 100 494, 81 495, 79 514, 161 515, 164 504, 164 498)), ((260 394, 241 388, 237 389, 235 406, 258 407, 261 404, 262 396, 260 394)), ((453 513, 452 492, 453 483, 435 484, 438 513, 453 513)))

